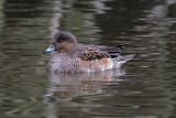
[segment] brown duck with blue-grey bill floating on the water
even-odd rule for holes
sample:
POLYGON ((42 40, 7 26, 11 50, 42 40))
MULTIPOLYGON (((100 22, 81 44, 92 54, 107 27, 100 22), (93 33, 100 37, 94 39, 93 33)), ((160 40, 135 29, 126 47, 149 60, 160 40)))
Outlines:
POLYGON ((58 52, 50 60, 46 69, 54 73, 91 73, 118 68, 135 55, 121 56, 124 47, 82 44, 78 43, 72 33, 57 31, 51 46, 44 51, 58 52))

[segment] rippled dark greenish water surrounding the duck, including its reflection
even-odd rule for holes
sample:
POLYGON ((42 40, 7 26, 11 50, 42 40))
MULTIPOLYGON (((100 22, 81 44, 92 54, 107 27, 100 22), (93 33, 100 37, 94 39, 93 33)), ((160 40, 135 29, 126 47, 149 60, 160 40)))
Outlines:
POLYGON ((2 118, 175 118, 175 0, 0 0, 2 118), (57 29, 136 54, 117 72, 55 75, 57 29))

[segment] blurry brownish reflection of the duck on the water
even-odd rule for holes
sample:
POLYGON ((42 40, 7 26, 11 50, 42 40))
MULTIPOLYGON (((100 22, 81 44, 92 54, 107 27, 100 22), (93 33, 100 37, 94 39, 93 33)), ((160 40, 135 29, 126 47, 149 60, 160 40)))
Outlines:
POLYGON ((118 77, 124 74, 125 71, 120 68, 97 73, 48 73, 51 84, 45 96, 52 106, 84 106, 72 100, 78 96, 103 94, 102 88, 110 84, 107 82, 117 82, 118 77))

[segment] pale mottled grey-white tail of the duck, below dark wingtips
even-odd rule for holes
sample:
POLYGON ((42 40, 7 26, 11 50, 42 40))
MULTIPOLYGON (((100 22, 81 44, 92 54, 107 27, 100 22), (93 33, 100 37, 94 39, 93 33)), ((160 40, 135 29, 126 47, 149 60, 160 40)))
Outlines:
POLYGON ((134 55, 135 54, 130 54, 130 55, 124 55, 124 56, 119 55, 118 57, 113 58, 113 61, 117 67, 120 67, 123 63, 132 60, 134 55))

